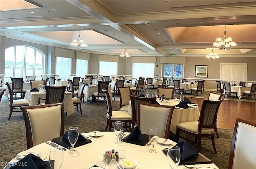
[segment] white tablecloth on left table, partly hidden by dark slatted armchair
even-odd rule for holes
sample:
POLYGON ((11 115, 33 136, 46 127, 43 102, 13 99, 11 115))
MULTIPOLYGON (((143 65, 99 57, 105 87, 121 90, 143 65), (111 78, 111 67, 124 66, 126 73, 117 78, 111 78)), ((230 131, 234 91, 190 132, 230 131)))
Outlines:
MULTIPOLYGON (((45 92, 44 93, 30 92, 30 90, 27 90, 25 94, 25 99, 28 99, 30 101, 29 106, 37 105, 39 97, 45 98, 45 92)), ((44 100, 40 100, 40 103, 44 103, 44 100)), ((65 92, 63 104, 64 104, 64 112, 68 112, 67 117, 74 113, 74 104, 73 104, 71 92, 65 92)))

